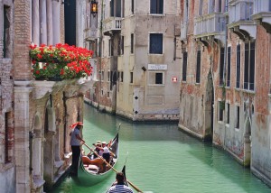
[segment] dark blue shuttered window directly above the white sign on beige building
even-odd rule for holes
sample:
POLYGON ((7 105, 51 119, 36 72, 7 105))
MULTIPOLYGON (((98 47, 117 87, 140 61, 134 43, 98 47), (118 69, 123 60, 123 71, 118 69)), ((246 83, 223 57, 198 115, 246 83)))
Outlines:
POLYGON ((163 53, 163 34, 162 33, 150 33, 150 51, 152 54, 163 53))

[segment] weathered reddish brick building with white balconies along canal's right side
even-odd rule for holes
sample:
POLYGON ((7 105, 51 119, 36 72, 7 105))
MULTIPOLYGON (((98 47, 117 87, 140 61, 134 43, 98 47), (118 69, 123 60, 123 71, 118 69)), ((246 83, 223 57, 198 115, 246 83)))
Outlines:
POLYGON ((212 140, 270 186, 271 1, 181 5, 179 127, 212 140))

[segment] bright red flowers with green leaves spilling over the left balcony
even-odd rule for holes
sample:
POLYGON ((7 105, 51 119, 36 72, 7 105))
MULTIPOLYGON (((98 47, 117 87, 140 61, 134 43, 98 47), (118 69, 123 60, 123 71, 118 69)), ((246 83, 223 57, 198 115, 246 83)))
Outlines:
POLYGON ((58 43, 55 46, 42 44, 30 46, 33 78, 61 80, 84 78, 91 74, 89 59, 93 51, 58 43))

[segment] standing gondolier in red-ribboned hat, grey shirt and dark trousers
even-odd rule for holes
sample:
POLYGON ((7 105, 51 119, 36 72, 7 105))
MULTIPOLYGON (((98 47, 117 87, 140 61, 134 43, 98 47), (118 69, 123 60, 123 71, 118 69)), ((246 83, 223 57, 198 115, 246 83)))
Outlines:
POLYGON ((70 175, 77 176, 78 166, 79 166, 79 157, 80 157, 80 142, 85 142, 80 137, 80 129, 83 128, 82 122, 77 122, 70 126, 73 128, 73 131, 70 133, 70 146, 72 152, 72 163, 70 167, 70 175))

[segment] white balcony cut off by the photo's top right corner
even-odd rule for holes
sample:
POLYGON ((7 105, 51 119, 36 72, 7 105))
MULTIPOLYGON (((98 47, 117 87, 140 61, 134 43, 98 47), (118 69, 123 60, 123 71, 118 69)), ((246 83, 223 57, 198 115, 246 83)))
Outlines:
POLYGON ((252 19, 271 33, 271 0, 254 0, 252 19))

